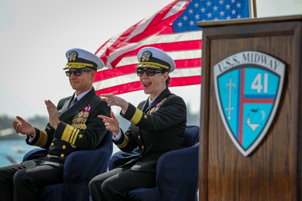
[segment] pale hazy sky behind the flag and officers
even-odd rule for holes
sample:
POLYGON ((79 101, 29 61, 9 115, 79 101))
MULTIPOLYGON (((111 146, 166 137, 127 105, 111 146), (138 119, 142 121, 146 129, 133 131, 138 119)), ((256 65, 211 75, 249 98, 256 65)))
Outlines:
MULTIPOLYGON (((74 92, 63 71, 67 50, 94 53, 109 38, 172 1, 0 0, 0 115, 47 115, 45 99, 57 104, 74 92)), ((301 0, 257 0, 256 6, 257 17, 302 14, 301 0)), ((200 111, 200 89, 170 88, 194 112, 200 111)), ((119 96, 134 105, 147 98, 143 91, 119 96)))

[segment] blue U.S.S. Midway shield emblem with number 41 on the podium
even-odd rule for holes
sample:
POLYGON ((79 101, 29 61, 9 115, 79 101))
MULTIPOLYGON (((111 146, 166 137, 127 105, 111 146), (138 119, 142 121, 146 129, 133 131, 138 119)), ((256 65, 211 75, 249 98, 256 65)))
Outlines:
POLYGON ((259 145, 275 117, 284 73, 284 63, 255 51, 236 53, 214 65, 220 117, 245 157, 259 145))

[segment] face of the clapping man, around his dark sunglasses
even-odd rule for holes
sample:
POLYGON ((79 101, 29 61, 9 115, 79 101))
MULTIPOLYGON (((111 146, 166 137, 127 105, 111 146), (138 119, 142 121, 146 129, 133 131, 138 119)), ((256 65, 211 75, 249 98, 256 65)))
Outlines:
MULTIPOLYGON (((89 68, 85 68, 91 70, 89 68)), ((68 69, 69 71, 75 71, 76 69, 68 69)), ((82 69, 81 69, 82 70, 82 69)), ((84 70, 84 69, 83 69, 84 70)), ((94 80, 95 71, 82 72, 81 75, 76 76, 74 73, 69 77, 70 85, 72 89, 76 90, 77 95, 89 90, 92 88, 92 83, 94 80)))

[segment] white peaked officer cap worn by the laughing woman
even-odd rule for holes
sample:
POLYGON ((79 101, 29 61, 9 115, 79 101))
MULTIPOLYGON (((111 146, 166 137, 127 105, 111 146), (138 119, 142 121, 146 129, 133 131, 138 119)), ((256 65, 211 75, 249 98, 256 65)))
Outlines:
POLYGON ((175 69, 175 62, 167 53, 154 47, 144 47, 137 54, 138 68, 155 68, 171 73, 175 69))

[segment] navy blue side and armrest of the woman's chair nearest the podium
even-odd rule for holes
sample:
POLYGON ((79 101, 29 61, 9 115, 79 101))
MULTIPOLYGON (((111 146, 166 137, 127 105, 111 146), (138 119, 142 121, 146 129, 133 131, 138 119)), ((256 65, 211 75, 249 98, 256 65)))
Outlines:
POLYGON ((156 187, 127 193, 129 200, 197 201, 199 142, 163 154, 157 163, 156 187))

